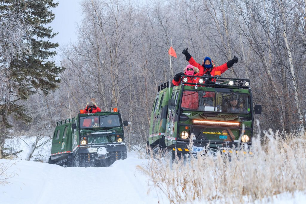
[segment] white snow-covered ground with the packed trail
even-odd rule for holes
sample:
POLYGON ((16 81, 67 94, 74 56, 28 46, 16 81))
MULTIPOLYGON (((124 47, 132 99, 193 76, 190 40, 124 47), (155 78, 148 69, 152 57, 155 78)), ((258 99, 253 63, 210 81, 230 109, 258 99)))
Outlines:
MULTIPOLYGON (((146 159, 138 158, 136 152, 128 153, 125 160, 116 161, 107 168, 63 168, 58 165, 25 161, 35 137, 22 136, 6 141, 16 150, 24 150, 17 160, 0 160, 0 169, 13 176, 9 184, 0 184, 1 204, 35 203, 169 203, 166 195, 155 188, 147 175, 137 168, 145 167, 146 159)), ((43 140, 42 140, 43 141, 43 140)), ((50 143, 34 151, 33 155, 47 161, 50 143)), ((4 179, 0 172, 0 181, 4 179)), ((305 203, 306 193, 284 193, 255 203, 305 203)), ((194 202, 196 204, 202 202, 194 202)), ((217 201, 217 204, 224 203, 217 201)))

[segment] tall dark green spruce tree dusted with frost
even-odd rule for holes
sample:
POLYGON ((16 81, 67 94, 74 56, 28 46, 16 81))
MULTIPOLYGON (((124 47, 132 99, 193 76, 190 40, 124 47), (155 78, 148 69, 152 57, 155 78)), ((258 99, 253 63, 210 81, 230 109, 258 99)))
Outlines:
MULTIPOLYGON (((54 19, 50 8, 56 6, 58 3, 53 0, 0 0, 0 23, 14 11, 19 17, 22 16, 16 18, 16 24, 26 22, 29 25, 25 29, 26 35, 21 36, 21 42, 26 44, 25 49, 10 55, 11 58, 3 61, 1 65, 1 70, 6 71, 7 79, 7 82, 3 82, 2 89, 5 89, 8 95, 0 98, 0 143, 5 139, 3 132, 12 128, 8 121, 9 116, 24 122, 31 121, 25 106, 20 103, 21 100, 26 100, 37 92, 48 95, 58 88, 60 81, 56 80, 56 76, 63 68, 56 66, 54 61, 48 61, 56 54, 52 49, 58 47, 58 43, 51 43, 48 39, 57 33, 53 33, 53 28, 45 26, 54 19)), ((16 34, 14 32, 20 30, 12 29, 10 34, 16 34)))

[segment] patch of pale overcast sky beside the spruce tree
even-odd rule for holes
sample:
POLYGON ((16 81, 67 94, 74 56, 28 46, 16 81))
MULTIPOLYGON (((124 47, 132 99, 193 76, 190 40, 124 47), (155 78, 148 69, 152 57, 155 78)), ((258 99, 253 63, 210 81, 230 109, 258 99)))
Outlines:
MULTIPOLYGON (((55 14, 55 19, 49 24, 54 32, 58 32, 58 35, 51 42, 59 43, 59 47, 67 45, 70 41, 75 42, 76 26, 82 20, 82 12, 80 3, 82 0, 56 0, 59 2, 58 7, 52 9, 55 14)), ((59 64, 61 60, 61 51, 56 49, 58 52, 57 56, 53 60, 59 64)))

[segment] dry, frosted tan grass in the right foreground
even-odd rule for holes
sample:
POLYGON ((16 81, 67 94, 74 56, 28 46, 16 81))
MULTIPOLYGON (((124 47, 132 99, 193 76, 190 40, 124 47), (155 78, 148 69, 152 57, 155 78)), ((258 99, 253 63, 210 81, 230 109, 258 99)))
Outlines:
MULTIPOLYGON (((192 144, 191 144, 192 145, 192 144)), ((305 135, 266 133, 251 149, 235 153, 189 156, 175 161, 151 154, 145 172, 171 203, 193 201, 253 202, 283 192, 306 190, 305 135), (249 154, 252 152, 252 154, 249 154), (244 154, 246 153, 246 154, 244 154), (184 164, 185 162, 185 164, 184 164)))

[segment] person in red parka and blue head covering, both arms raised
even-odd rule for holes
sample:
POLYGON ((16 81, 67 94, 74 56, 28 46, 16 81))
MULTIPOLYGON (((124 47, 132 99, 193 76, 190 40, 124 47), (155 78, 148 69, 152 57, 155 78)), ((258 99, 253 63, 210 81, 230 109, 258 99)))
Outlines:
POLYGON ((233 59, 227 61, 223 65, 215 67, 215 64, 213 63, 213 61, 211 61, 211 58, 210 57, 205 57, 204 60, 203 60, 203 64, 200 65, 188 53, 188 48, 184 49, 182 54, 185 55, 186 60, 189 62, 190 65, 195 66, 200 70, 199 76, 203 76, 204 74, 215 76, 215 71, 220 71, 221 74, 222 74, 227 69, 231 68, 234 63, 238 62, 238 58, 236 57, 236 55, 234 55, 233 59))

